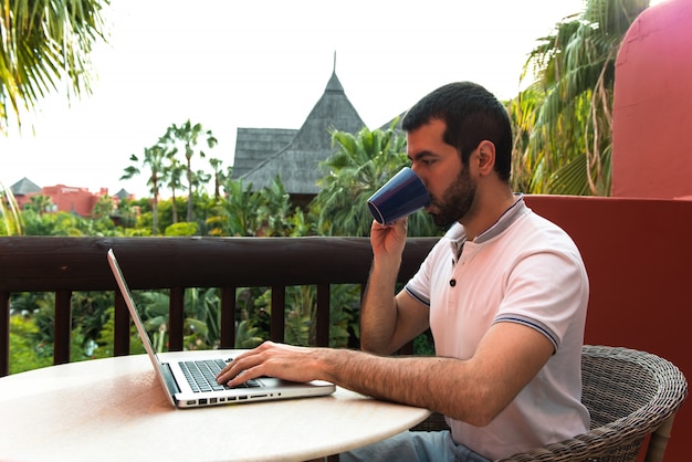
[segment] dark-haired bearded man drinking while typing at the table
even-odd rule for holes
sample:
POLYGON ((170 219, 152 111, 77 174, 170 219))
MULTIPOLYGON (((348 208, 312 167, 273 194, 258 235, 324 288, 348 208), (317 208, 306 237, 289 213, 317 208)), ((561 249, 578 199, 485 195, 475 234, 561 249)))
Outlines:
POLYGON ((407 220, 373 223, 364 351, 265 343, 219 381, 324 379, 441 412, 451 427, 406 432, 343 460, 482 461, 585 432, 588 280, 569 237, 512 192, 504 106, 476 84, 453 83, 417 103, 402 126, 411 168, 430 192, 427 212, 451 228, 392 296, 407 220), (428 327, 436 357, 386 356, 428 327))

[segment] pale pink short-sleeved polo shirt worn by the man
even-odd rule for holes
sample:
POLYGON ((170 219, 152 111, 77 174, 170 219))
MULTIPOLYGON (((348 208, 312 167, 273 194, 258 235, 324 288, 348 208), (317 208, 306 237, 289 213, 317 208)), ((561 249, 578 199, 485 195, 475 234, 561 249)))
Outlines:
POLYGON ((581 345, 589 290, 577 246, 521 197, 490 229, 464 241, 463 227, 454 224, 406 285, 430 307, 437 355, 472 357, 494 323, 535 328, 555 354, 489 426, 448 418, 454 441, 499 459, 584 433, 589 414, 580 402, 581 345))

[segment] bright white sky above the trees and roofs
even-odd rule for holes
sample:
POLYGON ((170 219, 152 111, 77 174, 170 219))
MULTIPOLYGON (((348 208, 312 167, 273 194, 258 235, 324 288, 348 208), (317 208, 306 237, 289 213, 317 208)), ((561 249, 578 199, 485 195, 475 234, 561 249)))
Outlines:
POLYGON ((208 156, 232 165, 238 127, 300 128, 334 52, 370 128, 452 81, 510 98, 535 40, 581 8, 583 0, 117 0, 106 13, 111 44, 93 57, 93 95, 51 96, 23 117, 22 134, 0 135, 0 182, 28 177, 146 196, 144 176, 118 180, 129 156, 188 118, 219 139, 208 156))

